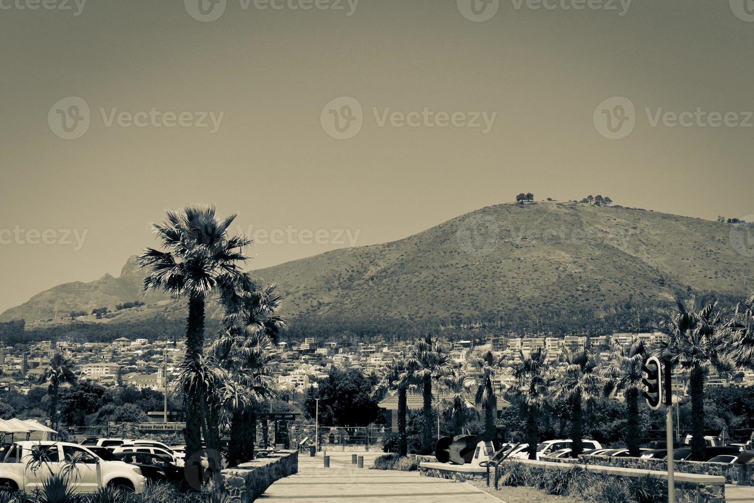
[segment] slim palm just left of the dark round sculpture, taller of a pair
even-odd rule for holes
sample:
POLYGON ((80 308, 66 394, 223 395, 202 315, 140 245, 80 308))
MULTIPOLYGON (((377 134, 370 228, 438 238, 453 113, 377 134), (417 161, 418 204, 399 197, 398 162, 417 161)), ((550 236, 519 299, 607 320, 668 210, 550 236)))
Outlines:
POLYGON ((452 376, 452 362, 446 342, 432 336, 416 342, 409 355, 409 367, 415 367, 415 384, 421 386, 424 427, 421 434, 422 454, 429 454, 434 447, 432 434, 432 383, 445 385, 452 376))

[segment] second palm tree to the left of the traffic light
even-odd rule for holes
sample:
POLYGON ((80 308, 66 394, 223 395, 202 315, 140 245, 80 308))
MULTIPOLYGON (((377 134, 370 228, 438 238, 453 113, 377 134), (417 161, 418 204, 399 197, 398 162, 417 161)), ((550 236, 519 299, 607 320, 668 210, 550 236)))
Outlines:
POLYGON ((553 398, 565 398, 571 405, 571 456, 577 458, 584 450, 584 403, 591 405, 602 394, 602 378, 593 351, 584 346, 578 351, 563 349, 562 363, 566 370, 553 381, 553 398))

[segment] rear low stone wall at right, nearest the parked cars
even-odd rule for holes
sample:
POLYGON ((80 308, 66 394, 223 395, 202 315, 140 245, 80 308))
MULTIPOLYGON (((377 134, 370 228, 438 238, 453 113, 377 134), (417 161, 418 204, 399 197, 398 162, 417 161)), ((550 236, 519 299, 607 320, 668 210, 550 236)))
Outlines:
MULTIPOLYGON (((667 471, 664 459, 644 459, 618 456, 580 455, 572 458, 542 458, 543 461, 558 463, 579 463, 581 465, 617 466, 638 470, 667 471)), ((703 463, 696 461, 674 462, 676 471, 683 474, 716 475, 725 477, 725 482, 737 486, 754 486, 754 465, 730 463, 703 463)))

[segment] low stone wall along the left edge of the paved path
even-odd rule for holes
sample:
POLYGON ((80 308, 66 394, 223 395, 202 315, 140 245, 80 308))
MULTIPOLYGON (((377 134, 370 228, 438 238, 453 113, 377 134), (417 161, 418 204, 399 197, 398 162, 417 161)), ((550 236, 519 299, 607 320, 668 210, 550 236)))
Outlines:
POLYGON ((278 451, 267 458, 241 463, 235 468, 222 471, 225 492, 230 501, 250 503, 259 498, 275 480, 288 477, 299 471, 299 452, 278 451))

